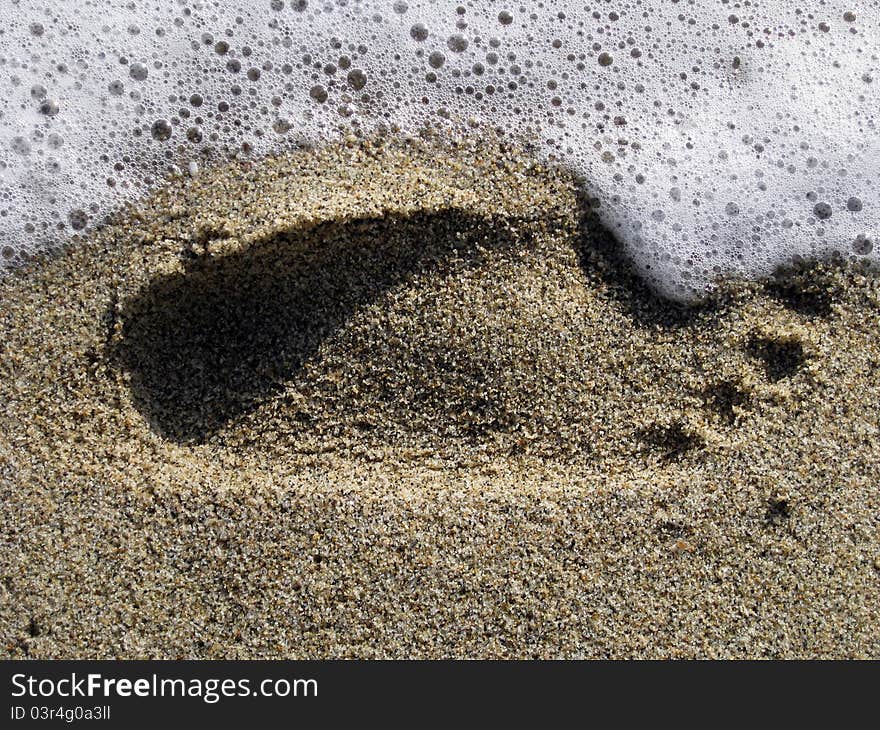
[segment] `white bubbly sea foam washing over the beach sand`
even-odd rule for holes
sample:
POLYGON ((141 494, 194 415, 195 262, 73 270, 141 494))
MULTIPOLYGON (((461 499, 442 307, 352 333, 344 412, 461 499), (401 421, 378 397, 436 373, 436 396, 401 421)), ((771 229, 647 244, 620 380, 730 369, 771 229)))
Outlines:
POLYGON ((583 179, 639 272, 875 261, 880 0, 7 0, 0 267, 169 174, 479 125, 583 179))

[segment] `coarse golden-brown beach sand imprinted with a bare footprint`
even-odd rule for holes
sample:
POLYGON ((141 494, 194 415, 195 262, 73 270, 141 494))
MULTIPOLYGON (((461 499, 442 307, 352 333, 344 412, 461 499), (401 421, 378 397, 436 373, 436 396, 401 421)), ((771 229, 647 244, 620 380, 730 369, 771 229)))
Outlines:
POLYGON ((0 281, 31 658, 880 657, 880 285, 653 297, 498 140, 179 179, 0 281))

